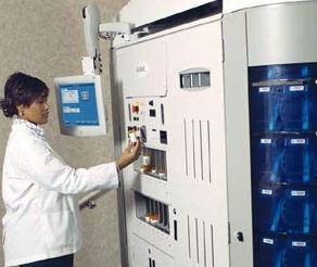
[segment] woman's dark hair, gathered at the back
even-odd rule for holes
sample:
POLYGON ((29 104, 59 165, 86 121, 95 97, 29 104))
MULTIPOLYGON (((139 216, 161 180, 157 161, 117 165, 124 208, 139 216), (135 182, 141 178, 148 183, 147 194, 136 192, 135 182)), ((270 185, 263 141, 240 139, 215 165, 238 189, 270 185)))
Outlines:
POLYGON ((0 100, 0 107, 5 117, 17 115, 17 106, 31 105, 35 100, 49 94, 47 85, 30 75, 13 73, 4 86, 4 99, 0 100))

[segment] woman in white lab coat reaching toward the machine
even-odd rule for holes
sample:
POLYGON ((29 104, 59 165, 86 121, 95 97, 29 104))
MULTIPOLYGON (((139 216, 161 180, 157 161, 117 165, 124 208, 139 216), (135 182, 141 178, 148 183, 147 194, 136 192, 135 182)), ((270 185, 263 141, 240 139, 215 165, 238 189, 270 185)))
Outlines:
POLYGON ((5 266, 71 267, 81 245, 76 194, 118 187, 118 170, 138 158, 140 143, 129 144, 113 163, 75 169, 47 143, 49 89, 23 73, 12 74, 1 107, 14 117, 3 163, 5 266))

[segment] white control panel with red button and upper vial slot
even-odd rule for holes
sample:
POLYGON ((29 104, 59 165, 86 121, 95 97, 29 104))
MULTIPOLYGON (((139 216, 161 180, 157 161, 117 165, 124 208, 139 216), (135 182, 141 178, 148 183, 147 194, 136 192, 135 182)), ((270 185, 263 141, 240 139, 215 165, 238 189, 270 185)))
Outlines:
POLYGON ((134 164, 135 170, 167 180, 164 98, 129 98, 126 107, 127 136, 131 142, 139 138, 143 144, 141 156, 134 164))

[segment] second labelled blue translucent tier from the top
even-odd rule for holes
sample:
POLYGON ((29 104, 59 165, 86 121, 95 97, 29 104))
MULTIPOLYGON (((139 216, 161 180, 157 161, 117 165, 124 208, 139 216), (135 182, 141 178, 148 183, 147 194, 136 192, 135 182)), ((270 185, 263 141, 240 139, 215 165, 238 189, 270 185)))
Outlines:
POLYGON ((255 183, 317 185, 316 134, 263 134, 252 137, 255 183))

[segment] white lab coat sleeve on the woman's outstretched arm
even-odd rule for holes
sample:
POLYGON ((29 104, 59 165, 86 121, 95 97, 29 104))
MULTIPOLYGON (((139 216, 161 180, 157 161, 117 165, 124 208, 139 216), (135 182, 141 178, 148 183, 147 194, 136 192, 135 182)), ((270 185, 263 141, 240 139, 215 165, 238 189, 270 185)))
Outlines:
POLYGON ((51 191, 77 194, 93 190, 110 190, 118 187, 115 163, 90 168, 73 168, 49 148, 37 141, 24 145, 23 163, 29 179, 51 191))

